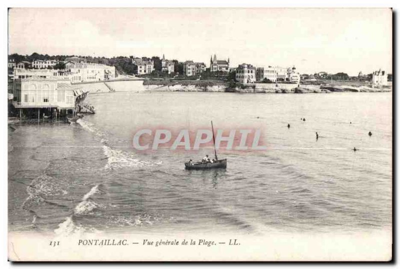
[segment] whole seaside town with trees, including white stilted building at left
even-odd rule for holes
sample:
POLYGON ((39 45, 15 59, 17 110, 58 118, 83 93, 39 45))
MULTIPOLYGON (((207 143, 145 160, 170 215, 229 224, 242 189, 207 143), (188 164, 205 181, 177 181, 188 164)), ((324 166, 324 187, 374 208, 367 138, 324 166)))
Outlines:
MULTIPOLYGON (((229 58, 218 58, 213 54, 209 63, 193 60, 178 61, 165 55, 149 57, 119 56, 113 58, 75 55, 8 55, 8 99, 9 111, 19 117, 40 114, 65 116, 82 112, 82 100, 86 96, 84 83, 115 80, 145 80, 144 83, 167 84, 173 81, 195 81, 196 85, 226 83, 226 87, 254 88, 255 84, 294 84, 301 92, 300 84, 320 84, 320 81, 353 81, 370 87, 387 87, 392 75, 384 70, 369 74, 359 72, 358 76, 346 73, 330 74, 324 71, 314 74, 300 74, 295 66, 254 66, 248 63, 230 66, 229 58), (161 82, 160 82, 161 80, 161 82), (153 81, 153 82, 151 82, 153 81), (78 106, 80 102, 80 106, 78 106), (35 112, 35 109, 38 109, 35 112), (44 111, 40 112, 40 109, 44 111)), ((325 82, 324 82, 325 83, 325 82)), ((265 88, 265 87, 264 87, 265 88)), ((321 87, 322 88, 322 87, 321 87)), ((330 88, 326 88, 331 90, 330 88)), ((274 88, 275 90, 275 88, 274 88)), ((275 90, 275 92, 278 92, 275 90)), ((285 92, 282 90, 281 92, 285 92)), ((314 91, 315 92, 315 91, 314 91)), ((87 106, 86 106, 87 108, 87 106)), ((90 108, 87 108, 90 110, 90 108)))

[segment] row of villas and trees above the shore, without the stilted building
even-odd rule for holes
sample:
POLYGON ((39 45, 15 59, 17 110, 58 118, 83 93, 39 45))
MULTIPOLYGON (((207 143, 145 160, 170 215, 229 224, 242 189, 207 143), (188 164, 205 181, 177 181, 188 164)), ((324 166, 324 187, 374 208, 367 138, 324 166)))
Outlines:
POLYGON ((49 56, 33 53, 28 55, 8 55, 8 77, 29 78, 37 76, 67 76, 71 83, 89 81, 108 81, 118 75, 131 75, 143 78, 153 77, 179 77, 188 79, 208 79, 219 77, 232 79, 243 84, 255 82, 274 83, 291 82, 299 83, 307 79, 332 79, 350 81, 370 81, 376 85, 386 85, 392 80, 392 75, 384 70, 372 71, 368 74, 359 72, 358 76, 349 76, 346 73, 331 74, 320 71, 314 74, 305 74, 295 66, 254 66, 252 64, 239 64, 231 67, 229 58, 220 59, 211 55, 209 64, 193 60, 178 61, 162 57, 91 57, 91 56, 49 56))

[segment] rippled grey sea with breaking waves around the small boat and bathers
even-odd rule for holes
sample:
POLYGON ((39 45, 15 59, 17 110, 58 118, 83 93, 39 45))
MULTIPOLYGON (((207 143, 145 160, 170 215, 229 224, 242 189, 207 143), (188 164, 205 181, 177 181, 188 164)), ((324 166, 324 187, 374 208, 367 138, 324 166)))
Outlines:
POLYGON ((8 130, 10 232, 391 229, 391 92, 125 88, 89 94, 96 113, 77 123, 21 122, 8 130), (221 150, 226 170, 191 171, 184 162, 213 156, 212 148, 132 147, 138 129, 210 129, 211 120, 215 129, 261 130, 266 149, 221 150))

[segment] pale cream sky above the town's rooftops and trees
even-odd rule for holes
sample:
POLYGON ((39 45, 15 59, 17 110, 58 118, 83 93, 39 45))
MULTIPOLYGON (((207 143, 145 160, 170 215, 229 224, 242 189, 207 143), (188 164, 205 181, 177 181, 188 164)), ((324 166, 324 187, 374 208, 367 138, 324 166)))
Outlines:
POLYGON ((12 8, 8 53, 392 72, 388 8, 12 8))

